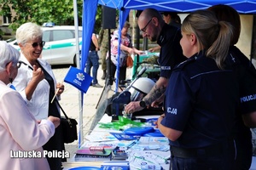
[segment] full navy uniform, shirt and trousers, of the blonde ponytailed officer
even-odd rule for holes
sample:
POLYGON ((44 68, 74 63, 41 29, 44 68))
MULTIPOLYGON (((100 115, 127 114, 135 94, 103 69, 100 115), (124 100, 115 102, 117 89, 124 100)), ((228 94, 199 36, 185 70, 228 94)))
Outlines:
POLYGON ((172 170, 232 169, 231 131, 239 104, 233 71, 220 70, 200 53, 177 65, 169 81, 161 124, 183 132, 170 140, 172 170))

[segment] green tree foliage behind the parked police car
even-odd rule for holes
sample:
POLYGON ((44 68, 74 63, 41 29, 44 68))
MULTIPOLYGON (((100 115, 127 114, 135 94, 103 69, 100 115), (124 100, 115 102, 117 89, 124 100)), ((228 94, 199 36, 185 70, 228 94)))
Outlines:
MULTIPOLYGON (((77 0, 79 26, 82 26, 83 0, 77 0)), ((12 18, 9 27, 16 30, 21 24, 35 22, 54 22, 58 26, 73 26, 73 0, 0 0, 0 15, 12 18), (11 10, 15 11, 12 16, 11 10)), ((102 8, 96 13, 96 31, 101 27, 102 8)))

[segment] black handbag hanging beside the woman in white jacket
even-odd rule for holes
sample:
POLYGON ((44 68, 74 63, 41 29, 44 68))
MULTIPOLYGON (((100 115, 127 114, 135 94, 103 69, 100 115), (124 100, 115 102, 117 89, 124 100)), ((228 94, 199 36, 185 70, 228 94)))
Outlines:
POLYGON ((61 108, 62 113, 65 117, 61 117, 61 127, 63 141, 66 144, 73 143, 73 141, 78 139, 77 124, 78 122, 75 119, 69 118, 65 111, 62 109, 59 101, 55 99, 57 105, 61 108))

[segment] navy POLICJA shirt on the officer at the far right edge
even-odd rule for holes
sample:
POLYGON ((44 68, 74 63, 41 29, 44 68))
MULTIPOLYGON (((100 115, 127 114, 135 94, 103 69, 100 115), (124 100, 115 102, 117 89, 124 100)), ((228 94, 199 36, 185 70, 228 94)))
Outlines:
POLYGON ((226 62, 232 66, 239 83, 240 110, 235 124, 235 137, 244 143, 247 142, 243 146, 248 147, 252 144, 252 133, 250 128, 244 125, 241 115, 256 111, 256 70, 236 46, 230 47, 226 62))

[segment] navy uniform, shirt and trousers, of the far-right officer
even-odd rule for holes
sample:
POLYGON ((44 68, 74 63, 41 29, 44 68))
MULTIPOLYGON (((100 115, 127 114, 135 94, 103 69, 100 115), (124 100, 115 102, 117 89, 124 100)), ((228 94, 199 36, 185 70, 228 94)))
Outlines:
POLYGON ((247 170, 251 167, 253 156, 252 133, 242 121, 242 114, 256 111, 256 70, 252 62, 236 48, 230 47, 227 65, 231 65, 236 72, 240 87, 241 108, 235 124, 234 138, 236 141, 236 166, 237 170, 247 170))

